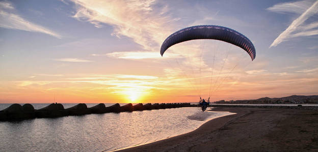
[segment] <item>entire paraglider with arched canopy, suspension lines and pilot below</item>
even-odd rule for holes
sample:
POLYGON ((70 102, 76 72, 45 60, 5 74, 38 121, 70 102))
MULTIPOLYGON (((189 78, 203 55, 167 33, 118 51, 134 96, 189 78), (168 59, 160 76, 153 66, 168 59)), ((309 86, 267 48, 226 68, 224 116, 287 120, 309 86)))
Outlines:
MULTIPOLYGON (((167 37, 167 39, 163 42, 161 46, 160 54, 163 56, 163 54, 167 51, 167 49, 175 44, 190 41, 190 40, 200 40, 200 39, 201 40, 202 39, 203 40, 204 39, 219 40, 222 42, 226 42, 226 43, 242 48, 246 53, 248 53, 252 61, 256 57, 256 51, 255 51, 254 45, 245 35, 231 28, 218 26, 218 25, 198 25, 198 26, 191 26, 191 27, 180 29, 167 37)), ((214 42, 212 41, 211 43, 214 43, 214 42)), ((232 45, 229 45, 229 46, 232 46, 232 45)), ((204 48, 204 45, 202 46, 204 48)), ((211 45, 211 46, 216 46, 216 45, 211 45)), ((209 84, 208 97, 210 98, 211 94, 216 92, 220 88, 220 86, 223 84, 223 82, 230 76, 230 73, 234 70, 234 68, 238 64, 244 64, 243 63, 244 61, 242 61, 241 59, 245 60, 245 58, 240 58, 237 56, 235 56, 234 58, 230 58, 231 60, 229 60, 228 59, 229 50, 227 50, 226 48, 224 49, 222 48, 219 50, 218 48, 219 47, 216 46, 213 49, 209 49, 214 52, 214 55, 213 57, 208 58, 208 60, 206 61, 210 61, 210 63, 212 63, 211 64, 212 66, 211 68, 203 69, 204 74, 211 73, 209 76, 201 75, 201 71, 202 71, 201 61, 203 60, 202 58, 203 49, 201 49, 200 56, 190 56, 191 59, 184 60, 183 62, 184 66, 186 66, 186 68, 190 67, 191 68, 190 70, 183 70, 182 67, 178 68, 178 69, 181 69, 181 71, 183 71, 183 73, 181 72, 180 74, 183 74, 183 77, 186 78, 184 80, 193 81, 193 84, 190 83, 190 85, 192 85, 192 87, 197 91, 196 93, 200 97, 200 105, 202 106, 203 111, 206 109, 208 103, 203 102, 201 100, 202 88, 204 88, 204 86, 207 86, 209 84), (225 55, 224 58, 222 58, 223 54, 225 55), (229 66, 233 65, 233 67, 228 69, 225 68, 226 61, 233 61, 232 63, 227 64, 229 66), (192 62, 196 62, 198 64, 192 64, 192 62), (195 66, 192 66, 192 65, 195 65, 195 66), (199 70, 196 71, 196 68, 199 68, 199 70), (187 73, 187 71, 192 71, 192 72, 187 73), (193 77, 191 77, 191 74, 193 75, 193 77), (190 78, 188 75, 190 75, 190 78), (206 78, 209 78, 210 81, 205 81, 205 80, 201 81, 201 79, 206 79, 206 78), (214 83, 212 83, 213 78, 215 78, 214 83), (199 82, 196 81, 197 79, 199 80, 199 82), (203 82, 204 85, 201 85, 201 82, 203 82)), ((195 47, 193 47, 193 50, 196 50, 195 47)), ((186 54, 187 52, 188 52, 188 55, 183 55, 183 57, 189 58, 189 49, 187 51, 184 51, 184 54, 186 54)), ((246 55, 245 52, 241 52, 241 53, 246 55)), ((199 53, 199 52, 194 52, 194 53, 199 53)), ((237 53, 233 52, 233 54, 237 54, 237 53)), ((182 65, 179 63, 177 59, 175 60, 177 63, 176 65, 178 66, 182 65)), ((169 65, 171 64, 169 63, 169 65)), ((205 90, 203 92, 205 92, 205 90)))

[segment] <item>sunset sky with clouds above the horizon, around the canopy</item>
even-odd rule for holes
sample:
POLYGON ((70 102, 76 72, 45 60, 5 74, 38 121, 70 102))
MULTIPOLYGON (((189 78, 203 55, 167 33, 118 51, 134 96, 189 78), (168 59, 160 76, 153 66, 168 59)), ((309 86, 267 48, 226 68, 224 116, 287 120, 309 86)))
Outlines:
POLYGON ((0 1, 0 103, 197 102, 318 94, 318 1, 0 1), (171 33, 220 25, 254 44, 171 33))

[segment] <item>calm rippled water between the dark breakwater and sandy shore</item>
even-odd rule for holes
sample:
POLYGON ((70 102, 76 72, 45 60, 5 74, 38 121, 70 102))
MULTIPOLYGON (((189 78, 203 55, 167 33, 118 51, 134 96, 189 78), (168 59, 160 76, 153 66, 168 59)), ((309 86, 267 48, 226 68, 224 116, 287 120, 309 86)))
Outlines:
MULTIPOLYGON (((68 106, 72 105, 64 104, 68 106)), ((0 147, 1 151, 114 150, 183 134, 231 114, 183 107, 0 122, 0 147)))

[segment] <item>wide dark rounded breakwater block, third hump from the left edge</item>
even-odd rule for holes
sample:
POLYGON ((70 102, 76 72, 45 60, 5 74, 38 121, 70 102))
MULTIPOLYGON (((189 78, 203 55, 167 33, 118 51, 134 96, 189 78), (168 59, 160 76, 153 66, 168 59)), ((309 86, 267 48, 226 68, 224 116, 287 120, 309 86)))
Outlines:
POLYGON ((64 106, 61 103, 51 103, 50 105, 35 110, 37 118, 54 118, 68 116, 68 112, 64 110, 64 106))

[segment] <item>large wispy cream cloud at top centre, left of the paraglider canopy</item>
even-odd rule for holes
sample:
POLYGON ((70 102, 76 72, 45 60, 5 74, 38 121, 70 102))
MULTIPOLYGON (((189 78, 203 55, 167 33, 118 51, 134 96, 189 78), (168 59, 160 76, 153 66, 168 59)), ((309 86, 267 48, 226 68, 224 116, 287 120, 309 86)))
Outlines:
POLYGON ((168 14, 160 15, 167 8, 154 9, 154 0, 72 1, 77 7, 73 16, 75 19, 90 22, 96 27, 101 27, 102 24, 112 25, 114 35, 130 37, 149 51, 157 50, 165 36, 171 32, 167 23, 174 20, 168 14))

